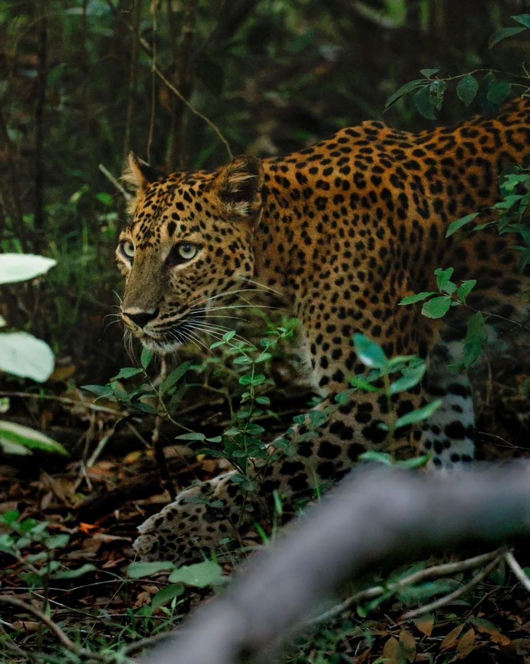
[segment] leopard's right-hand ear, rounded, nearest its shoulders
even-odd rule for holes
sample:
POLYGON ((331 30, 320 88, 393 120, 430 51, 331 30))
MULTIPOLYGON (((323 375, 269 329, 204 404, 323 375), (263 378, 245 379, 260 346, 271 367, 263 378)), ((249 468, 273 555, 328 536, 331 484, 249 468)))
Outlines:
POLYGON ((261 210, 263 166, 257 157, 234 157, 216 178, 218 197, 230 216, 254 217, 261 210))

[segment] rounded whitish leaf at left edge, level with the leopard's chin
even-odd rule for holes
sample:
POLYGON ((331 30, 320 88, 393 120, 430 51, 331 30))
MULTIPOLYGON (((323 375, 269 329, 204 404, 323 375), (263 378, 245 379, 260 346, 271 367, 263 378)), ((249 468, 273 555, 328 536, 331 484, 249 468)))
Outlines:
POLYGON ((0 335, 0 371, 44 382, 54 367, 52 349, 25 332, 0 335))

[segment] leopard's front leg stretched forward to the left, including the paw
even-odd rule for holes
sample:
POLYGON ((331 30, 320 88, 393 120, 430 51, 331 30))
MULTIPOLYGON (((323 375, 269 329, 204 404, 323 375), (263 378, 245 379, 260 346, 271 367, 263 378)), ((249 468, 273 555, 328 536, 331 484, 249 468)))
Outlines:
POLYGON ((270 459, 252 471, 259 485, 256 493, 241 493, 233 481, 235 472, 186 489, 141 525, 135 550, 147 560, 180 564, 200 560, 201 551, 219 548, 226 539, 230 548, 241 546, 256 522, 267 531, 272 523, 273 491, 283 497, 284 512, 293 513, 295 499, 312 497, 322 483, 342 477, 359 454, 384 443, 385 432, 379 428, 385 421, 381 404, 383 400, 361 392, 340 406, 334 396, 328 396, 293 428, 294 454, 287 456, 271 444, 270 459), (314 424, 322 420, 314 430, 314 424))

